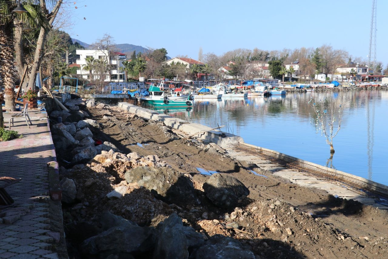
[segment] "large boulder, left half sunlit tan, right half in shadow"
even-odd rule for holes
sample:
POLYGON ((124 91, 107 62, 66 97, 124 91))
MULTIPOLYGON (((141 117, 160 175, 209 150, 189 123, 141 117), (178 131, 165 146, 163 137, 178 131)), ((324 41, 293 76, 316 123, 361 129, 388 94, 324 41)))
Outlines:
POLYGON ((189 177, 171 168, 136 167, 127 171, 124 177, 127 183, 144 186, 166 202, 182 206, 199 204, 189 177))

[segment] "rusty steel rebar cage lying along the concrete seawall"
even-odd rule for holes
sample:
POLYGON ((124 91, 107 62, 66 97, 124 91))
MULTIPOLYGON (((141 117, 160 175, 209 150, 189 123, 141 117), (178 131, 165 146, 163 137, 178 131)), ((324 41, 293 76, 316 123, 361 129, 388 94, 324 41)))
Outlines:
POLYGON ((327 182, 330 182, 339 186, 346 186, 347 188, 352 189, 353 191, 361 195, 375 196, 375 197, 381 197, 381 196, 388 197, 388 189, 374 186, 372 184, 369 184, 357 178, 353 178, 350 176, 325 170, 319 167, 315 167, 308 163, 303 163, 297 160, 293 160, 289 157, 282 156, 275 152, 263 150, 260 148, 249 147, 240 143, 232 144, 231 148, 237 151, 242 151, 251 155, 258 156, 260 158, 269 160, 271 162, 277 163, 282 166, 286 166, 288 169, 298 170, 302 174, 315 176, 315 177, 318 177, 319 179, 324 179, 327 182))

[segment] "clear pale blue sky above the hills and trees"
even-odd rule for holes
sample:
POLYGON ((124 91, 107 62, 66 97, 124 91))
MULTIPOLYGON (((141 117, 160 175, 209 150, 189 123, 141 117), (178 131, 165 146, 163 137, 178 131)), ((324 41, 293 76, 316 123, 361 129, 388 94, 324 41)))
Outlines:
MULTIPOLYGON (((74 6, 71 37, 92 43, 109 33, 116 43, 164 47, 171 57, 197 58, 199 47, 218 55, 322 44, 364 59, 369 52, 372 0, 81 0, 74 6)), ((377 8, 377 60, 385 68, 388 1, 377 8)))

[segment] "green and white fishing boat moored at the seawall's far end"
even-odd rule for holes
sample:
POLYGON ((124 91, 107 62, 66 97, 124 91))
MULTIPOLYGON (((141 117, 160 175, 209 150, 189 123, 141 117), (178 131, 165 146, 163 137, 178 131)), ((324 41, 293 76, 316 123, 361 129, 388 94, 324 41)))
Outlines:
POLYGON ((166 94, 166 91, 170 91, 169 88, 164 89, 164 81, 160 82, 158 86, 151 85, 148 89, 149 96, 141 97, 140 100, 148 105, 156 107, 190 107, 193 102, 191 101, 191 94, 174 93, 166 94))

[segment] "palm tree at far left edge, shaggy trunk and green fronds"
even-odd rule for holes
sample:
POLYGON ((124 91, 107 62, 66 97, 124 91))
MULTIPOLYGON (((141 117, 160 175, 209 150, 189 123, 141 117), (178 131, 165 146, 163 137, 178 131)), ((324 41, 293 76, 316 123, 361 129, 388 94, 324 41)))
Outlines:
POLYGON ((5 88, 5 109, 15 110, 15 81, 17 71, 14 63, 14 33, 21 33, 21 24, 31 29, 43 28, 49 30, 45 12, 39 4, 23 3, 27 12, 17 14, 12 12, 17 1, 0 0, 0 76, 5 88))

